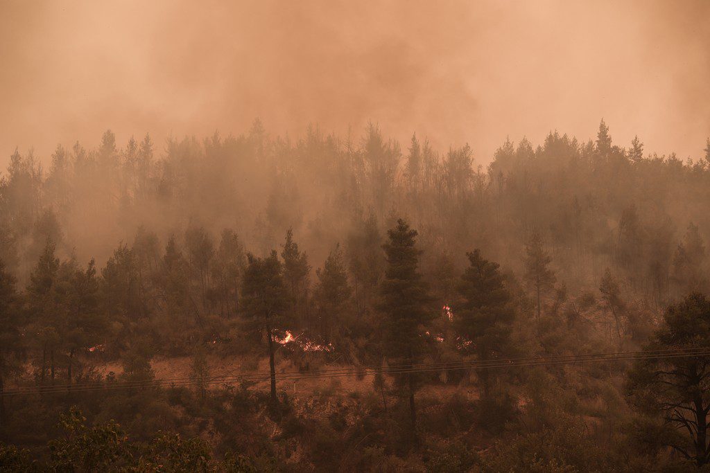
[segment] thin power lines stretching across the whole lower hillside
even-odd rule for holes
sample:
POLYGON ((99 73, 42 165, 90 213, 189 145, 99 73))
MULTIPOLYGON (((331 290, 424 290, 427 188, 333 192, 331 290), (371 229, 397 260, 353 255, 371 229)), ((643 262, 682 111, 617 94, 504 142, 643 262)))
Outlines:
MULTIPOLYGON (((323 369, 318 372, 282 372, 276 373, 278 382, 297 381, 307 379, 336 378, 349 376, 367 376, 369 374, 414 374, 437 371, 454 371, 463 369, 500 369, 515 367, 537 367, 552 365, 569 365, 589 362, 618 362, 633 360, 670 359, 678 357, 710 356, 710 347, 650 350, 637 352, 611 352, 588 355, 556 355, 549 357, 521 357, 503 358, 497 360, 477 360, 470 362, 427 362, 412 365, 395 365, 390 367, 348 367, 323 369)), ((235 384, 237 382, 265 382, 271 379, 270 373, 251 373, 205 377, 204 379, 190 378, 163 378, 146 379, 139 381, 109 382, 109 383, 84 383, 63 384, 53 386, 26 386, 6 389, 3 396, 21 394, 55 394, 66 392, 113 391, 117 389, 141 389, 149 387, 178 387, 210 384, 235 384)))

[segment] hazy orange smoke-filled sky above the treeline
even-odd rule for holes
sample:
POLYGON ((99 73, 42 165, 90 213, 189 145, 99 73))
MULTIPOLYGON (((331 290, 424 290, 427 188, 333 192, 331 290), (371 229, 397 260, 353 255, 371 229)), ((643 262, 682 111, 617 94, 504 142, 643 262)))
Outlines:
MULTIPOLYGON (((261 118, 403 144, 550 130, 700 157, 710 135, 710 2, 0 1, 0 163, 150 132, 239 134, 261 118)), ((162 148, 159 146, 159 148, 162 148)))

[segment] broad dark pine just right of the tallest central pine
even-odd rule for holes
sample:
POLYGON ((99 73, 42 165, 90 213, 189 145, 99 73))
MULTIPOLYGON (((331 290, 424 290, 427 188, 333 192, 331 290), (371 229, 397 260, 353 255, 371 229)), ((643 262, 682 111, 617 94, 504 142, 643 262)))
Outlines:
MULTIPOLYGON (((479 250, 466 253, 469 267, 461 276, 457 289, 461 304, 454 309, 454 328, 464 340, 471 341, 469 349, 481 361, 495 360, 510 355, 510 341, 515 311, 511 296, 503 283, 499 265, 481 257, 479 250)), ((489 370, 478 372, 488 396, 491 387, 489 370)))

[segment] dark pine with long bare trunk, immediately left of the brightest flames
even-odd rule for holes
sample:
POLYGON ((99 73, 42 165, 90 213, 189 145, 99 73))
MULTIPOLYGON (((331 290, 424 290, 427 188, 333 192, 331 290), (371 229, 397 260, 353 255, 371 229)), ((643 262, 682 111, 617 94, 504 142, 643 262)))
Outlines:
POLYGON ((271 372, 271 401, 276 402, 276 369, 274 361, 275 330, 287 321, 288 293, 283 284, 283 269, 275 251, 266 258, 247 255, 248 265, 241 286, 241 308, 251 330, 266 335, 271 372))

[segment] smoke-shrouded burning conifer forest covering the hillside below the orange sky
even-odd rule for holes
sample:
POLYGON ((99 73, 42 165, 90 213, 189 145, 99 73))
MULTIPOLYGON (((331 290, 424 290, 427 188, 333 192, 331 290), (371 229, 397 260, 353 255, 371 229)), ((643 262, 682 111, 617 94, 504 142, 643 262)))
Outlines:
POLYGON ((0 472, 710 469, 709 204, 603 120, 15 150, 0 472))

